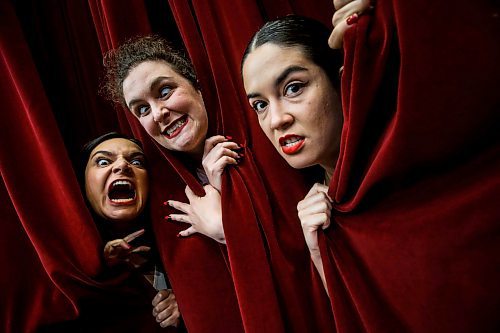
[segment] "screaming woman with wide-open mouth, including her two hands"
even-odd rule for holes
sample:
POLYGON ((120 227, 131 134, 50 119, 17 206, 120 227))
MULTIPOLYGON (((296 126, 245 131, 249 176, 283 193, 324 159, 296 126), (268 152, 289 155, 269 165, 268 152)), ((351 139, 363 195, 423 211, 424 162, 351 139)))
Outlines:
MULTIPOLYGON (((134 138, 111 132, 87 143, 81 159, 85 197, 103 238, 111 239, 103 251, 109 273, 132 269, 133 276, 143 272, 159 290, 152 302, 159 326, 179 326, 180 312, 175 295, 166 289, 163 273, 156 266, 151 267, 158 260, 146 256, 154 241, 149 232, 145 233, 149 229, 144 211, 149 179, 142 144, 134 138), (134 245, 138 237, 142 244, 148 245, 134 245), (154 274, 148 273, 151 268, 154 274)), ((148 294, 153 290, 152 287, 147 290, 146 284, 143 287, 148 294)))

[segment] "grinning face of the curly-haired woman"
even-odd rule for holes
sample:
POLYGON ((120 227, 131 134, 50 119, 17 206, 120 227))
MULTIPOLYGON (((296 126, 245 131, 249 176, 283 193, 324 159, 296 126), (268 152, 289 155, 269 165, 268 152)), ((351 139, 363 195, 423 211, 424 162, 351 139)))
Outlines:
POLYGON ((164 61, 145 61, 123 81, 129 110, 160 145, 203 153, 208 118, 201 92, 164 61))

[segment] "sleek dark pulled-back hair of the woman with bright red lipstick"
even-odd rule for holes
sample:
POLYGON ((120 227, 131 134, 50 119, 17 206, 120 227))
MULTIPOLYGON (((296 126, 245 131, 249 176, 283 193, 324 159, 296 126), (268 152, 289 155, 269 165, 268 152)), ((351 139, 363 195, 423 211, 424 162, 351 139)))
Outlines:
MULTIPOLYGON (((281 47, 298 47, 314 64, 321 67, 336 88, 340 86, 339 70, 343 55, 340 50, 328 46, 330 29, 314 19, 288 15, 269 21, 252 37, 243 53, 241 69, 247 56, 267 43, 281 47)), ((243 72, 242 72, 243 73, 243 72)))

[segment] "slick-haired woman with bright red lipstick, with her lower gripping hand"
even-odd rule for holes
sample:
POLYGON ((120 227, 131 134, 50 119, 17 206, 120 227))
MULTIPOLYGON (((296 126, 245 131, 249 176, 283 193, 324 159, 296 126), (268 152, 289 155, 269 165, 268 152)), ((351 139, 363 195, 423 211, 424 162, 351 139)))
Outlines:
MULTIPOLYGON (((292 167, 320 165, 325 184, 335 169, 343 123, 338 95, 342 58, 328 47, 329 34, 317 21, 287 16, 266 23, 250 41, 242 61, 248 101, 268 139, 292 167)), ((324 284, 316 231, 330 221, 332 206, 325 184, 315 184, 297 206, 324 284)))

